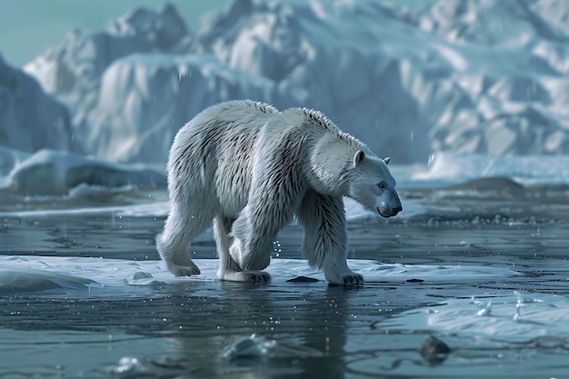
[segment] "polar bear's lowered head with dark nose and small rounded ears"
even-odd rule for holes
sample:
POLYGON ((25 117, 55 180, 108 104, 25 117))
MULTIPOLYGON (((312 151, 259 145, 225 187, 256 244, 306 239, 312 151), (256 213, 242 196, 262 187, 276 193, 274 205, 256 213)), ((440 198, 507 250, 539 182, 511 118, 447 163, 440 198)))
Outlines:
POLYGON ((395 179, 387 164, 389 158, 380 159, 371 153, 358 150, 349 181, 349 197, 364 208, 384 217, 393 217, 403 211, 395 191, 395 179))

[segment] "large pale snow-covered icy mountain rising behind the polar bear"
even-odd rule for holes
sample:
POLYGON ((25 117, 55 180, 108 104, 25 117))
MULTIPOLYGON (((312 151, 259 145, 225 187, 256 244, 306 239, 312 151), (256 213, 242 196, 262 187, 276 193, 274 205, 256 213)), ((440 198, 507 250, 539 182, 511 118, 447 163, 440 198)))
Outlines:
POLYGON ((379 155, 569 154, 569 3, 235 0, 189 33, 175 8, 71 32, 25 72, 69 106, 85 153, 165 162, 207 105, 314 107, 379 155))

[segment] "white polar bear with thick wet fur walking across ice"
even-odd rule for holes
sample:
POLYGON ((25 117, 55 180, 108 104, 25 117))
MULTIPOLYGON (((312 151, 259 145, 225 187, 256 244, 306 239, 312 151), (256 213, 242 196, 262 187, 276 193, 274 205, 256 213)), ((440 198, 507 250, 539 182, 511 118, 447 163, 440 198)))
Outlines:
POLYGON ((362 283, 346 262, 343 196, 384 217, 401 212, 388 163, 311 109, 213 105, 175 135, 157 249, 173 274, 200 274, 187 249, 213 221, 219 278, 265 282, 276 234, 296 216, 308 263, 330 284, 362 283))

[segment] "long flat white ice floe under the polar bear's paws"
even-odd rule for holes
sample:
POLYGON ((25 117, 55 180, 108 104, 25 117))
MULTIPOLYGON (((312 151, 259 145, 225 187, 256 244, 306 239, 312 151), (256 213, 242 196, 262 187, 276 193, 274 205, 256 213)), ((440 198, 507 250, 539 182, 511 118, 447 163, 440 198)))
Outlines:
MULTIPOLYGON (((171 284, 175 282, 216 281, 218 261, 196 259, 201 274, 175 277, 160 261, 56 257, 0 256, 0 291, 20 294, 54 289, 85 289, 105 294, 105 288, 117 286, 171 284)), ((350 267, 369 283, 420 280, 425 283, 472 281, 474 278, 523 275, 501 267, 463 265, 381 264, 371 260, 349 260, 350 267)), ((275 258, 266 269, 273 283, 306 276, 325 283, 324 274, 302 259, 275 258)))

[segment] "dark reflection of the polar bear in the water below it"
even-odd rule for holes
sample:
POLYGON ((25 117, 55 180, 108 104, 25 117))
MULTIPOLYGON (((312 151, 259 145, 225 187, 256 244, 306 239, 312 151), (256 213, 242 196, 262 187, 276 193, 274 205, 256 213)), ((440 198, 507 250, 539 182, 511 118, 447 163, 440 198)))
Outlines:
POLYGON ((350 294, 357 289, 320 282, 285 284, 282 291, 281 285, 220 282, 213 297, 195 298, 192 288, 187 288, 185 299, 171 297, 170 336, 180 346, 175 362, 212 378, 236 372, 246 372, 250 378, 283 374, 344 378, 350 294), (228 345, 235 349, 235 343, 258 353, 251 349, 252 334, 257 343, 268 343, 266 354, 223 354, 228 345))

